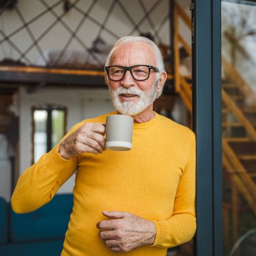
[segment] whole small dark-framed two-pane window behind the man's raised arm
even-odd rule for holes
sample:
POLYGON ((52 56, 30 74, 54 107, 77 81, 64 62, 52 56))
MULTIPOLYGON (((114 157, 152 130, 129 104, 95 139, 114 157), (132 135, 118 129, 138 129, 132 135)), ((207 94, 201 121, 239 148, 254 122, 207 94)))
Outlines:
POLYGON ((32 108, 32 163, 49 152, 65 134, 67 110, 64 106, 47 104, 32 108))

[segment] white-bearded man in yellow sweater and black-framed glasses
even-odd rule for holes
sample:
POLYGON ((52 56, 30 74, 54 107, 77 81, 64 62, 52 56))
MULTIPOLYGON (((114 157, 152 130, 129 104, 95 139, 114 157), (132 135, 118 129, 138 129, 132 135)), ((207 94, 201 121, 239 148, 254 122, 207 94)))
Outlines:
POLYGON ((154 42, 119 39, 105 71, 117 111, 75 125, 22 174, 12 207, 36 210, 77 170, 61 255, 164 256, 195 233, 195 136, 153 111, 166 81, 154 42), (134 119, 127 152, 105 150, 104 123, 117 113, 134 119))

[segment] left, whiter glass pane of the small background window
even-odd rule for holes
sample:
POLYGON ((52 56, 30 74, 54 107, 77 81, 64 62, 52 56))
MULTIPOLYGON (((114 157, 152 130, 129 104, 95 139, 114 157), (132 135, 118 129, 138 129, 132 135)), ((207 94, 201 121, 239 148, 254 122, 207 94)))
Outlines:
POLYGON ((34 110, 34 162, 47 150, 47 111, 34 110))

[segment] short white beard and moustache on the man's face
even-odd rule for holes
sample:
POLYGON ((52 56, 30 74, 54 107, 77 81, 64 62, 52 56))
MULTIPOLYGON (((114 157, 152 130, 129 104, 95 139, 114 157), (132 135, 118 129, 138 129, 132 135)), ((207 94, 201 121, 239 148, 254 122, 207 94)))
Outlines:
POLYGON ((142 92, 141 90, 135 88, 119 87, 117 88, 117 90, 111 90, 109 88, 110 98, 113 102, 115 109, 119 113, 121 113, 122 115, 134 116, 148 108, 148 106, 150 106, 150 104, 152 104, 156 100, 158 94, 157 86, 158 79, 156 79, 156 82, 154 82, 152 89, 149 92, 142 92), (139 99, 136 102, 132 102, 130 100, 121 102, 119 100, 120 94, 135 94, 139 96, 139 99))

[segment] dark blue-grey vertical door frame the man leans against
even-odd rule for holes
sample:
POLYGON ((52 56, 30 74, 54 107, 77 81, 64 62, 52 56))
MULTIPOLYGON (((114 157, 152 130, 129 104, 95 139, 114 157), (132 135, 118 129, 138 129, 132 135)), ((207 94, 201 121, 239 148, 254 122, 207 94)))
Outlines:
POLYGON ((192 0, 196 256, 222 255, 221 0, 192 0))

